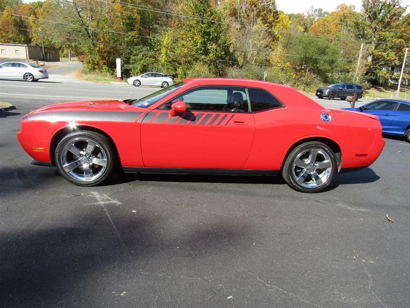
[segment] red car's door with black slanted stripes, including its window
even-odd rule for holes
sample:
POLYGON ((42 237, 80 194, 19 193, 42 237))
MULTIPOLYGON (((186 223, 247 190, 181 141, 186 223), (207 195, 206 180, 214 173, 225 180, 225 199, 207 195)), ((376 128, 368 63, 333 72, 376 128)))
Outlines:
POLYGON ((146 167, 242 169, 255 132, 247 91, 238 87, 189 90, 146 115, 141 123, 146 167), (171 117, 175 101, 186 112, 171 117), (233 107, 236 106, 236 107, 233 107))

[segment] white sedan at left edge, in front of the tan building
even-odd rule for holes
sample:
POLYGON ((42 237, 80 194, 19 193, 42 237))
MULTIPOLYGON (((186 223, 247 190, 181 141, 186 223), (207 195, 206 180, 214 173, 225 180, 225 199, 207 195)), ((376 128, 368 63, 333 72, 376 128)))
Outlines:
POLYGON ((0 64, 0 79, 37 81, 39 79, 48 79, 48 72, 44 68, 27 62, 4 62, 0 64))

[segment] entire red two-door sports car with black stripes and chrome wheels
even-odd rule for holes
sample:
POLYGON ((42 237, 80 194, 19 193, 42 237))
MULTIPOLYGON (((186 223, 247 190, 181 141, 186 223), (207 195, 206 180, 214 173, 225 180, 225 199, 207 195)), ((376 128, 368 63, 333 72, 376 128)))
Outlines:
POLYGON ((91 186, 125 172, 276 175, 316 192, 337 172, 372 164, 383 149, 370 114, 326 109, 268 82, 188 79, 139 100, 39 108, 19 142, 33 164, 91 186))

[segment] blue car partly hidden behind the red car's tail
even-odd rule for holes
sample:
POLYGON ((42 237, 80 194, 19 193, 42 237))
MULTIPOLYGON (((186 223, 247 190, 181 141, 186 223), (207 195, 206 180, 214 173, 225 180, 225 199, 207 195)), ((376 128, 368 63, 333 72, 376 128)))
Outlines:
POLYGON ((375 114, 379 117, 383 133, 404 137, 410 142, 410 101, 386 99, 343 109, 375 114))

